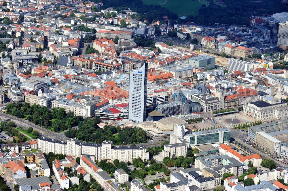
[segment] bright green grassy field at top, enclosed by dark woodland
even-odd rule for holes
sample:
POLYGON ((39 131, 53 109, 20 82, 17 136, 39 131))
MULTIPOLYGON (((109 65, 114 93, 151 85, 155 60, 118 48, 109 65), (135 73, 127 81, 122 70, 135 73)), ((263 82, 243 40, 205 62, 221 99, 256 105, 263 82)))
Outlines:
POLYGON ((196 15, 198 9, 201 8, 203 4, 207 5, 205 0, 142 0, 144 4, 147 5, 160 5, 167 8, 170 12, 178 14, 181 16, 196 15))

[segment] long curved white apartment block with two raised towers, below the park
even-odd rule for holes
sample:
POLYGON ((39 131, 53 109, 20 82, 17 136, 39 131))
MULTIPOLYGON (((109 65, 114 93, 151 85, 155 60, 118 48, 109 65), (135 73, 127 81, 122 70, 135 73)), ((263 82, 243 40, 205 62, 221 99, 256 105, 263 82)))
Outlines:
POLYGON ((46 137, 38 138, 38 148, 43 153, 65 154, 73 157, 89 155, 94 161, 107 160, 120 162, 130 161, 140 157, 142 160, 149 159, 149 153, 144 146, 112 146, 112 142, 102 144, 79 142, 77 139, 69 138, 67 141, 59 141, 46 137))

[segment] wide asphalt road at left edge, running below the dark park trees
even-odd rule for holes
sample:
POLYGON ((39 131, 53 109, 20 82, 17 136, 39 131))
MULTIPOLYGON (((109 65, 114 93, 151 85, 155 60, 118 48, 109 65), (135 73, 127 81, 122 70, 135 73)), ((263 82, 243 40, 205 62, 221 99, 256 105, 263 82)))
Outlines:
POLYGON ((29 127, 32 127, 33 129, 37 130, 39 133, 41 133, 43 136, 47 136, 49 138, 54 138, 57 140, 67 140, 68 138, 65 136, 64 132, 56 133, 52 132, 48 129, 45 129, 43 127, 37 126, 27 120, 19 119, 18 117, 14 117, 12 115, 8 115, 6 113, 1 113, 2 116, 0 116, 0 119, 11 119, 17 126, 21 126, 24 129, 27 129, 29 127))

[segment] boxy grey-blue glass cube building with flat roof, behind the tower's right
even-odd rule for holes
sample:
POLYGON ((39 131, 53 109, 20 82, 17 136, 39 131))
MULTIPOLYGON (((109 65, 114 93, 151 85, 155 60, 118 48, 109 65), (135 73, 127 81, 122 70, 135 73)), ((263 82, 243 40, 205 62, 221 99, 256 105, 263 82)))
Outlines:
POLYGON ((209 55, 192 57, 189 59, 188 64, 191 67, 205 67, 206 70, 212 70, 215 68, 215 57, 209 55))

